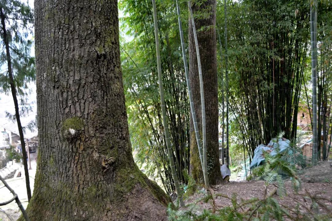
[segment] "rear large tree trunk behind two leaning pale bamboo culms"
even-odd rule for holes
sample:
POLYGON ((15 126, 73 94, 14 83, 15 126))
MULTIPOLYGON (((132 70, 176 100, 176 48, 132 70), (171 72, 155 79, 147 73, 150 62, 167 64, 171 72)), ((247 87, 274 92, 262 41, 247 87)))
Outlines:
MULTIPOLYGON (((217 83, 217 61, 216 61, 216 34, 215 34, 215 11, 216 1, 207 0, 200 7, 192 5, 193 13, 209 10, 210 16, 207 19, 195 19, 195 25, 199 42, 199 49, 202 63, 202 74, 204 83, 204 97, 206 110, 206 131, 207 131, 207 165, 209 183, 214 185, 221 181, 219 164, 218 144, 218 83, 217 83), (204 27, 204 30, 200 30, 204 27)), ((193 92, 194 106, 197 122, 202 130, 202 110, 200 81, 196 59, 195 40, 192 24, 189 21, 189 78, 193 92)), ((193 178, 203 183, 203 171, 196 143, 193 120, 190 121, 190 174, 193 178)), ((202 133, 201 133, 202 135, 202 133)))

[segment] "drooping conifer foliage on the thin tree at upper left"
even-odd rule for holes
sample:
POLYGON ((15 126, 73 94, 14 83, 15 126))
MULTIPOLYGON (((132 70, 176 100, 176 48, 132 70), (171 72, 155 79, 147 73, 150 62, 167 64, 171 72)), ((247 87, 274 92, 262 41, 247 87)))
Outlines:
MULTIPOLYGON (((6 31, 12 58, 12 69, 17 91, 24 95, 22 89, 27 88, 27 83, 35 80, 35 58, 30 56, 30 48, 33 45, 33 10, 18 0, 2 0, 0 5, 3 9, 6 22, 6 31)), ((3 30, 0 35, 3 39, 3 30)), ((7 63, 6 50, 0 53, 0 65, 7 63)), ((0 91, 10 91, 7 71, 0 74, 0 91)))

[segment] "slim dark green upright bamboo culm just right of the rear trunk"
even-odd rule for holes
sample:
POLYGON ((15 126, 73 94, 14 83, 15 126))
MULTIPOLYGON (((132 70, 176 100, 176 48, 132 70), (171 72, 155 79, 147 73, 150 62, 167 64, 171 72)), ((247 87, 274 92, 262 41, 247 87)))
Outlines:
POLYGON ((227 55, 227 11, 226 0, 224 0, 224 12, 225 12, 225 77, 226 77, 226 164, 229 167, 229 120, 228 120, 228 55, 227 55))

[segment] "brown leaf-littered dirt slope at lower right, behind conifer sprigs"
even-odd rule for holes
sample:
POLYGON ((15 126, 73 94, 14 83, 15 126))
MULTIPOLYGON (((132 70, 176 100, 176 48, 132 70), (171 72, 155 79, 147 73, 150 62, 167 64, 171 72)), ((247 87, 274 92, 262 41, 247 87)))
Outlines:
MULTIPOLYGON (((279 197, 277 194, 274 197, 279 201, 282 207, 294 208, 297 203, 299 203, 300 211, 303 213, 322 213, 325 214, 332 212, 332 166, 330 162, 320 162, 317 166, 311 168, 305 168, 299 172, 299 176, 302 180, 301 187, 296 194, 293 190, 293 185, 289 179, 285 180, 285 187, 287 190, 287 195, 284 197, 279 197), (312 202, 307 197, 303 195, 312 195, 315 197, 322 197, 321 202, 324 205, 318 207, 318 211, 312 211, 312 202), (326 208, 324 208, 326 206, 326 208), (308 212, 310 210, 310 212, 308 212)), ((264 198, 265 184, 264 181, 242 181, 242 182, 228 182, 226 184, 221 184, 211 187, 214 193, 222 193, 227 196, 232 196, 233 193, 237 195, 237 199, 250 199, 257 197, 260 199, 264 198)), ((267 193, 269 193, 275 187, 268 188, 267 193)), ((194 202, 195 200, 202 197, 202 193, 196 193, 186 199, 186 203, 194 202)), ((217 208, 222 208, 224 206, 231 205, 230 199, 225 197, 217 196, 214 198, 217 208)), ((212 209, 210 203, 199 202, 196 207, 197 214, 200 214, 203 209, 212 209)), ((287 220, 287 219, 286 219, 287 220)), ((331 217, 332 220, 332 217, 331 217)))

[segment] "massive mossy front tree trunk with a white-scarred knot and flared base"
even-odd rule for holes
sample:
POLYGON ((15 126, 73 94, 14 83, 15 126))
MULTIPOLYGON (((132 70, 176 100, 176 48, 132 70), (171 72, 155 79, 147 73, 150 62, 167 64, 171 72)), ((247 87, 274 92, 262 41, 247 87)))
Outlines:
POLYGON ((35 0, 31 220, 167 219, 169 198, 133 161, 118 26, 116 0, 35 0))

